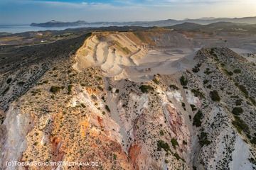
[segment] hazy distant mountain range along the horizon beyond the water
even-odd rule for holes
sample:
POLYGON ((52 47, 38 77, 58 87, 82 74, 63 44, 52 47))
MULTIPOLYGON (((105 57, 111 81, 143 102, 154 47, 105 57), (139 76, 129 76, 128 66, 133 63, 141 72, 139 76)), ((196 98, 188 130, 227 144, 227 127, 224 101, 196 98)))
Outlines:
POLYGON ((31 26, 36 27, 68 27, 68 26, 174 26, 181 23, 196 23, 196 24, 210 24, 218 22, 232 22, 232 23, 247 23, 256 24, 255 17, 244 17, 244 18, 199 18, 199 19, 185 19, 185 20, 161 20, 161 21, 133 21, 133 22, 86 22, 86 21, 75 21, 75 22, 60 22, 60 21, 49 21, 46 23, 31 23, 31 26))

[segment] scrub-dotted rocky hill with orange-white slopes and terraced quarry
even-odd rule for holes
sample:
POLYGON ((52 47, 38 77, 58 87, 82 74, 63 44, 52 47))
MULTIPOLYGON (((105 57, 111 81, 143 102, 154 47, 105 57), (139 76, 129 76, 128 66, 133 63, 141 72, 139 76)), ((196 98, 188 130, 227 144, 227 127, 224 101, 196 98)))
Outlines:
POLYGON ((256 168, 254 62, 164 29, 92 33, 57 59, 2 74, 2 169, 256 168))

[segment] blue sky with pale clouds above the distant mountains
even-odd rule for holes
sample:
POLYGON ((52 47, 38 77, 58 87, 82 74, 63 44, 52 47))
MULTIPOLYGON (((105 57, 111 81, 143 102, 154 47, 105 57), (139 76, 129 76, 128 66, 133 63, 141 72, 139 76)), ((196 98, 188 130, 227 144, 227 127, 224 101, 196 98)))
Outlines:
POLYGON ((0 0, 0 24, 256 16, 256 0, 0 0))

